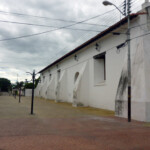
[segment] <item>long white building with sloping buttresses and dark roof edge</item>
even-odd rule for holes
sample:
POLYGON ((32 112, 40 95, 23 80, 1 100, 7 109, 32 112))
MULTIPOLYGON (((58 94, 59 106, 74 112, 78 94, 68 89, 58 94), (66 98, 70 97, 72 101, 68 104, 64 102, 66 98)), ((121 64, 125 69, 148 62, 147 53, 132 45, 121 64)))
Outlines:
MULTIPOLYGON (((150 121, 150 4, 130 18, 132 118, 150 121)), ((41 70, 36 96, 127 117, 127 35, 112 32, 126 33, 127 18, 41 70)))

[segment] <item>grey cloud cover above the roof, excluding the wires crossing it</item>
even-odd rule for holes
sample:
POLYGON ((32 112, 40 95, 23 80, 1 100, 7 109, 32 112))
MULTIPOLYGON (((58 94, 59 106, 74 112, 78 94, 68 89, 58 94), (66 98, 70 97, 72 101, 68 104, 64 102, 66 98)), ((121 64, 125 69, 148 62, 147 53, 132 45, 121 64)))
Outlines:
MULTIPOLYGON (((113 2, 119 5, 123 0, 114 0, 113 2)), ((106 8, 102 6, 102 0, 1 0, 0 4, 1 9, 4 11, 76 21, 81 21, 112 9, 112 7, 106 8)), ((116 12, 98 17, 89 22, 110 25, 119 20, 119 15, 114 17, 114 14, 116 12)), ((2 13, 0 13, 0 19, 56 27, 72 24, 34 17, 4 15, 2 13)), ((4 23, 1 23, 0 26, 0 39, 52 29, 4 23)), ((94 29, 98 31, 104 29, 104 27, 84 24, 73 26, 73 28, 94 29)), ((26 71, 32 71, 33 69, 39 71, 96 34, 95 32, 63 29, 39 36, 0 42, 0 53, 2 54, 0 71, 3 71, 4 75, 8 75, 12 81, 16 80, 17 73, 21 74, 21 79, 29 78, 25 74, 26 71)))

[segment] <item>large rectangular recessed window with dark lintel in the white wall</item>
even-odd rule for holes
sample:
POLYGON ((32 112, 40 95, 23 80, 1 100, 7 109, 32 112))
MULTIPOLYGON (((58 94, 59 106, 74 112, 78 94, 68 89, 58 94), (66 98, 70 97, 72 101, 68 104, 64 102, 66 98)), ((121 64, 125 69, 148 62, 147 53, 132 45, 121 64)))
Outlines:
POLYGON ((99 84, 106 80, 105 55, 106 52, 94 56, 94 84, 99 84))

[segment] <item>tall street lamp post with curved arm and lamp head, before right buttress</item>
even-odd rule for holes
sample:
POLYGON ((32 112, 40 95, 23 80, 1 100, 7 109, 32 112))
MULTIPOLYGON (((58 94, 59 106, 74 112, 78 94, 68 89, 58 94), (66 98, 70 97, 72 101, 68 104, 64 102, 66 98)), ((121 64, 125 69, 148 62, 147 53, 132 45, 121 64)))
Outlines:
MULTIPOLYGON (((126 15, 113 3, 109 1, 104 1, 105 6, 113 5, 119 10, 119 12, 126 17, 126 15)), ((125 4, 126 5, 126 4, 125 4)), ((128 122, 131 122, 131 48, 130 48, 130 9, 131 0, 127 0, 127 20, 128 20, 128 30, 127 30, 127 43, 128 43, 128 122)))

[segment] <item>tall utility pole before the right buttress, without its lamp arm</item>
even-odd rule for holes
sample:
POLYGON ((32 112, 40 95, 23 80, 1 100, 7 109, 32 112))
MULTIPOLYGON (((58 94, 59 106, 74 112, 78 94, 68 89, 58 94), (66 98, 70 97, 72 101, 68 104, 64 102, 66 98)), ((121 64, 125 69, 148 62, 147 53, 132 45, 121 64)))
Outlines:
POLYGON ((130 43, 130 13, 131 13, 131 0, 127 2, 127 14, 128 14, 128 122, 131 122, 131 43, 130 43))

